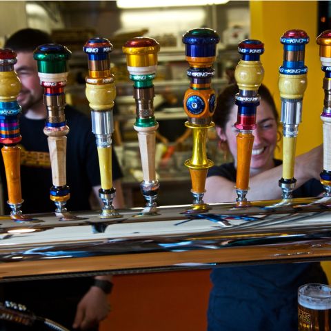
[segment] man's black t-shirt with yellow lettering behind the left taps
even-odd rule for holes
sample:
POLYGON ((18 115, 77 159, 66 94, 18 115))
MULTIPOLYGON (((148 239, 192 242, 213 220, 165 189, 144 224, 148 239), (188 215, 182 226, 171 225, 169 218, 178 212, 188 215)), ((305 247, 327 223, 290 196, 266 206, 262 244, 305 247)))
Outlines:
MULTIPOLYGON (((100 185, 99 159, 91 120, 83 113, 66 106, 67 135, 66 171, 70 187, 68 210, 89 210, 89 197, 93 186, 100 185)), ((21 188, 24 200, 22 211, 54 212, 50 200, 52 172, 46 134, 43 133, 45 120, 27 119, 21 116, 21 188)), ((112 152, 113 179, 122 177, 117 157, 112 152)), ((6 186, 6 177, 3 176, 6 186)), ((7 188, 4 188, 5 197, 7 188)), ((7 198, 7 197, 6 197, 7 198)), ((7 199, 6 199, 7 201, 7 199)), ((8 209, 7 212, 10 210, 8 209)))

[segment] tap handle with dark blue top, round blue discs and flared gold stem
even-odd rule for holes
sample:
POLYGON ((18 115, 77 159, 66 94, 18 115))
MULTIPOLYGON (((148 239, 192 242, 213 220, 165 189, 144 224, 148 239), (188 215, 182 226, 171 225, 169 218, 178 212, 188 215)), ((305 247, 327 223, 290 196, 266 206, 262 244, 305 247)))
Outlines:
POLYGON ((183 35, 185 44, 185 59, 190 68, 187 71, 190 78, 190 88, 186 90, 183 100, 188 121, 187 128, 192 129, 192 158, 185 161, 190 169, 193 203, 186 213, 207 212, 210 208, 203 202, 205 179, 208 168, 214 164, 207 158, 205 141, 208 128, 214 126, 212 114, 216 107, 215 92, 210 87, 214 77, 212 63, 216 58, 216 45, 219 35, 209 28, 197 28, 183 35))

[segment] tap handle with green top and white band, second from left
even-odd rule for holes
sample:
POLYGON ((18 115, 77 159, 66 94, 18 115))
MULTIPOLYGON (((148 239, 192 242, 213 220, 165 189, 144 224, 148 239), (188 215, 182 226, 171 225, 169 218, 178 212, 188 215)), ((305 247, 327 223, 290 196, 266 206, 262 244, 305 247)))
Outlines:
POLYGON ((67 84, 70 55, 68 48, 52 43, 41 45, 34 50, 40 84, 44 88, 43 101, 47 108, 43 132, 48 136, 52 167, 53 185, 50 188, 50 199, 54 201, 56 212, 61 217, 66 214, 66 202, 70 198, 70 188, 66 183, 66 134, 69 128, 64 113, 64 87, 67 84))

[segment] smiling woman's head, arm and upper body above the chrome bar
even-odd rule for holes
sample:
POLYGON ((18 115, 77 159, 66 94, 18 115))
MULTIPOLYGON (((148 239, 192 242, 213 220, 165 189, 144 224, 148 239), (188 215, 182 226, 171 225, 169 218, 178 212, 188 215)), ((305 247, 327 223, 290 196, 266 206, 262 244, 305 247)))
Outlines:
MULTIPOLYGON (((237 129, 234 123, 237 121, 237 106, 234 105, 235 94, 239 92, 237 85, 225 88, 218 97, 217 109, 214 112, 213 121, 221 146, 232 154, 233 163, 215 165, 208 171, 206 180, 205 202, 234 201, 237 194, 234 184, 237 176, 237 129)), ((260 106, 257 107, 257 128, 253 131, 254 144, 250 163, 250 200, 279 199, 281 189, 278 187, 278 179, 281 177, 281 161, 274 159, 274 149, 277 145, 278 113, 272 95, 268 88, 261 85, 260 106)), ((322 169, 321 146, 300 155, 295 160, 295 178, 297 179, 296 197, 306 192, 306 185, 312 185, 314 196, 323 190, 319 183, 319 172, 322 169), (308 183, 306 183, 308 182, 308 183), (305 185, 303 185, 305 184, 305 185)), ((307 191, 308 192, 308 191, 307 191)), ((303 195, 307 196, 307 195, 303 195)))

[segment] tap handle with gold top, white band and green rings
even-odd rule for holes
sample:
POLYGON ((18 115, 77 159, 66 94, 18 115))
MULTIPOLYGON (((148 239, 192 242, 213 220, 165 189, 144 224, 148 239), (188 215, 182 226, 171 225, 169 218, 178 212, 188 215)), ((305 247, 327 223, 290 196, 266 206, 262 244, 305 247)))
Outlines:
POLYGON ((133 94, 136 101, 136 122, 134 130, 138 132, 143 181, 140 189, 147 203, 141 214, 157 213, 157 194, 159 181, 155 171, 155 135, 159 124, 154 117, 154 85, 157 72, 157 53, 159 43, 148 37, 130 39, 123 46, 130 79, 133 81, 133 94))

